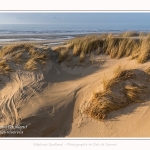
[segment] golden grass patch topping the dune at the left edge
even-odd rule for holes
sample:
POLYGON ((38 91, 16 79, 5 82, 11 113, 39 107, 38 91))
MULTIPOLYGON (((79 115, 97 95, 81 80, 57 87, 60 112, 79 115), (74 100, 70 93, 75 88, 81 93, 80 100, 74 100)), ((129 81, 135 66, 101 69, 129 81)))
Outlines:
POLYGON ((22 65, 24 69, 36 70, 38 65, 45 65, 49 51, 38 49, 34 44, 12 44, 3 46, 0 50, 1 74, 11 72, 12 65, 22 65))

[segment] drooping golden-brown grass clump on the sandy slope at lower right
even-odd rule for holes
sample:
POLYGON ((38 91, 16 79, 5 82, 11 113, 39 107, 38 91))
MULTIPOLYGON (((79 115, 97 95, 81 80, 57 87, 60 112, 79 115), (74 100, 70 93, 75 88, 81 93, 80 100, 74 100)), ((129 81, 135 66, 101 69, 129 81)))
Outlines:
POLYGON ((85 113, 94 119, 103 120, 111 111, 142 102, 140 95, 145 92, 145 89, 131 82, 135 77, 134 70, 117 67, 113 77, 103 81, 103 91, 93 94, 85 113), (130 84, 127 84, 129 80, 130 84))

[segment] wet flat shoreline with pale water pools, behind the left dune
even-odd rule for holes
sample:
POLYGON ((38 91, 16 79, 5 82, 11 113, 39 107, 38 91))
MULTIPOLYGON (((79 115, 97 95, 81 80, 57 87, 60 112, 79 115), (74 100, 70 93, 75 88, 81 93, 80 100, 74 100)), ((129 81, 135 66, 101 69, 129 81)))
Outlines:
POLYGON ((37 43, 45 45, 56 45, 71 38, 86 34, 3 34, 0 35, 0 45, 16 43, 37 43))

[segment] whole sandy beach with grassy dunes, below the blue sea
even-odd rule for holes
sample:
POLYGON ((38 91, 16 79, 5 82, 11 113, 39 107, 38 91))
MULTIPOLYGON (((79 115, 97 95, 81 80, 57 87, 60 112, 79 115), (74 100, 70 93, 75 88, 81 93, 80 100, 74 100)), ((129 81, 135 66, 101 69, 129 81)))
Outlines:
POLYGON ((0 39, 1 137, 150 136, 150 62, 140 58, 136 50, 142 54, 143 45, 134 38, 66 33, 0 39), (70 42, 73 47, 68 41, 76 38, 70 42), (86 47, 84 40, 94 46, 86 47), (86 47, 84 53, 79 43, 86 47), (118 46, 115 54, 113 46, 118 46), (123 53, 118 53, 120 47, 123 53), (116 82, 108 85, 106 80, 116 82))

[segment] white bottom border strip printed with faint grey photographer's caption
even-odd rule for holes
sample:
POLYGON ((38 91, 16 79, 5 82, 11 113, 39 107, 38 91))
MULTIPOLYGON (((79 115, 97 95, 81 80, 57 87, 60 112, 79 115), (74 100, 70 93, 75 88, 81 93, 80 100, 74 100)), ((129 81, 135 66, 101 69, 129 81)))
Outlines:
POLYGON ((94 150, 121 150, 121 149, 144 149, 149 150, 149 139, 15 139, 15 140, 0 140, 0 147, 9 149, 31 149, 31 150, 49 150, 49 149, 78 149, 94 148, 94 150))

